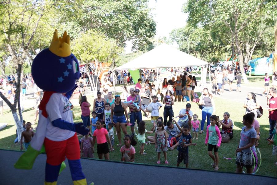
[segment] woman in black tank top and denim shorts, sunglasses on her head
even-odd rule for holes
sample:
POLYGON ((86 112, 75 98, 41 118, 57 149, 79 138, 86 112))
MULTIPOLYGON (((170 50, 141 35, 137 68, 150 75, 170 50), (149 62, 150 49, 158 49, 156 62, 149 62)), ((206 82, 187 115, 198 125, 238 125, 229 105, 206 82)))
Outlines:
POLYGON ((110 109, 111 109, 110 119, 111 119, 111 122, 115 125, 118 142, 119 142, 118 146, 121 146, 122 142, 121 142, 120 128, 122 128, 122 132, 126 135, 127 134, 126 125, 127 123, 129 123, 129 118, 128 118, 126 105, 121 102, 120 95, 115 95, 114 103, 111 105, 110 109), (124 112, 126 116, 124 115, 124 112))

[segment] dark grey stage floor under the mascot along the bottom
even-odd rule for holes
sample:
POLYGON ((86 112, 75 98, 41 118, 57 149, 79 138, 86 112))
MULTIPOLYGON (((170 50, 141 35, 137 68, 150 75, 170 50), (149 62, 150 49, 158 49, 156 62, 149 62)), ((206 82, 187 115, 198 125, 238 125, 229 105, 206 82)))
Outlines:
MULTIPOLYGON (((32 170, 18 170, 14 163, 22 152, 0 149, 0 184, 3 185, 39 185, 44 183, 46 155, 40 154, 32 170)), ((82 171, 87 183, 122 184, 277 184, 276 178, 259 175, 223 173, 206 170, 184 169, 166 166, 130 164, 96 159, 81 159, 82 171)), ((59 185, 73 184, 69 166, 58 178, 59 185)))

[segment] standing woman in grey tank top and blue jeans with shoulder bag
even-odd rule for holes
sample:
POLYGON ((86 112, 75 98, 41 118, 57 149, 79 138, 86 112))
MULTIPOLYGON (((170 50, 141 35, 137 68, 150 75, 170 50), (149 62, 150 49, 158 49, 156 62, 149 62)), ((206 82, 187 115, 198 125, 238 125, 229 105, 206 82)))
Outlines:
POLYGON ((215 102, 213 99, 213 95, 209 93, 208 88, 203 89, 203 95, 199 100, 199 108, 202 108, 201 131, 199 132, 200 134, 202 134, 206 118, 208 126, 210 124, 210 117, 215 112, 215 102))

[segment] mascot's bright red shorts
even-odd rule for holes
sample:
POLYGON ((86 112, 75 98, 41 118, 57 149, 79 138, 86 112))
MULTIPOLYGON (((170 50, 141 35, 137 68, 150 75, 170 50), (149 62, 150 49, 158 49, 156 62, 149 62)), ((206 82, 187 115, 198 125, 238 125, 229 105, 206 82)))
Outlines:
POLYGON ((77 134, 64 141, 44 139, 47 160, 50 165, 60 165, 65 157, 69 160, 80 159, 80 145, 77 134))

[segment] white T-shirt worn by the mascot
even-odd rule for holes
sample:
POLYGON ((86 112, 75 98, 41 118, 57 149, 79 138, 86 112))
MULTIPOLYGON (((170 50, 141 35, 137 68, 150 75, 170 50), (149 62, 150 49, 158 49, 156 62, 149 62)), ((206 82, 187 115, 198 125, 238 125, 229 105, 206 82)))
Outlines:
POLYGON ((73 123, 69 100, 62 93, 54 93, 51 95, 48 103, 46 104, 46 112, 48 118, 41 115, 42 111, 39 112, 39 124, 47 124, 46 138, 52 141, 63 141, 74 136, 75 132, 54 127, 51 123, 59 118, 73 123))

